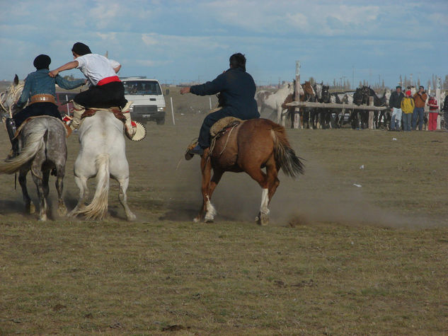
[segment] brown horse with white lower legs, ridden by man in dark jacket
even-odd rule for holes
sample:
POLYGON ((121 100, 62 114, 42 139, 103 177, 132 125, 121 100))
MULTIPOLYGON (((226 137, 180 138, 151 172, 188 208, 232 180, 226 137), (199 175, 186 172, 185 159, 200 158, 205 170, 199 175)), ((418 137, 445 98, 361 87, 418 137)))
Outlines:
POLYGON ((285 128, 267 119, 246 120, 236 127, 228 127, 217 138, 212 151, 204 151, 200 166, 203 202, 195 221, 213 221, 216 210, 210 199, 226 171, 246 172, 263 188, 256 218, 261 225, 269 221, 268 204, 280 184, 278 171, 283 169, 292 178, 304 173, 303 164, 289 146, 285 128), (262 168, 266 168, 266 173, 262 168))

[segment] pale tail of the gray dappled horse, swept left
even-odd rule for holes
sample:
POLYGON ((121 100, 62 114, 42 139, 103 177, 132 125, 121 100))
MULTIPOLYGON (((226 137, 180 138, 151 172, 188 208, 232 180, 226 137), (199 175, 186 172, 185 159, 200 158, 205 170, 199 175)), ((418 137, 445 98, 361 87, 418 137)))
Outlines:
POLYGON ((23 146, 20 155, 0 163, 0 173, 16 173, 21 166, 34 158, 42 146, 45 146, 44 138, 45 133, 47 132, 48 127, 46 123, 36 123, 33 125, 33 132, 27 137, 25 146, 23 146))

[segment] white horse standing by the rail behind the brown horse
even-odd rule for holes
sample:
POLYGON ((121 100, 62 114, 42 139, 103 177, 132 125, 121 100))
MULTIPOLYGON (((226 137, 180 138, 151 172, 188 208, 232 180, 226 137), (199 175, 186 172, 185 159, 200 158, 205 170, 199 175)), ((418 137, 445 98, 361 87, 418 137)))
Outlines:
MULTIPOLYGON (((285 124, 283 113, 285 109, 282 108, 282 104, 285 103, 287 96, 292 94, 294 94, 294 83, 285 83, 274 93, 265 90, 258 91, 258 93, 255 94, 258 111, 260 112, 260 114, 265 108, 270 108, 274 111, 277 111, 277 124, 280 124, 281 122, 285 124)), ((304 89, 300 84, 299 95, 304 95, 304 89)))

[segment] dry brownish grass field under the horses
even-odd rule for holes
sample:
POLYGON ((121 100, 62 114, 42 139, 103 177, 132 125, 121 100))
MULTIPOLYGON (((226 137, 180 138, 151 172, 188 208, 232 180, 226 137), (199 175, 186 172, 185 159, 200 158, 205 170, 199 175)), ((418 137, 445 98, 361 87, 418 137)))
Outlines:
POLYGON ((254 222, 260 187, 231 173, 215 222, 195 224, 199 160, 182 158, 209 100, 170 96, 176 125, 127 141, 137 221, 113 182, 105 221, 38 222, 0 176, 1 335, 448 334, 448 133, 289 130, 306 173, 280 173, 270 225, 254 222))

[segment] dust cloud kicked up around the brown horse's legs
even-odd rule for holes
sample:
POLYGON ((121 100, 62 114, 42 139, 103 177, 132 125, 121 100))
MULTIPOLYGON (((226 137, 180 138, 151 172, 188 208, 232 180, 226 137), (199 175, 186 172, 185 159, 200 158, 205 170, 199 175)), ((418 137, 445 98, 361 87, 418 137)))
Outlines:
MULTIPOLYGON (((342 225, 373 225, 391 228, 439 226, 437 220, 405 216, 381 209, 352 181, 335 177, 314 163, 305 162, 305 175, 292 180, 280 172, 280 185, 270 202, 270 225, 295 226, 331 222, 342 225)), ((202 204, 199 160, 182 163, 181 180, 171 195, 171 215, 166 219, 191 220, 202 204), (182 195, 181 199, 179 196, 182 195), (176 215, 174 215, 176 214, 176 215)), ((246 173, 224 173, 212 197, 215 221, 255 221, 261 188, 246 173)))

